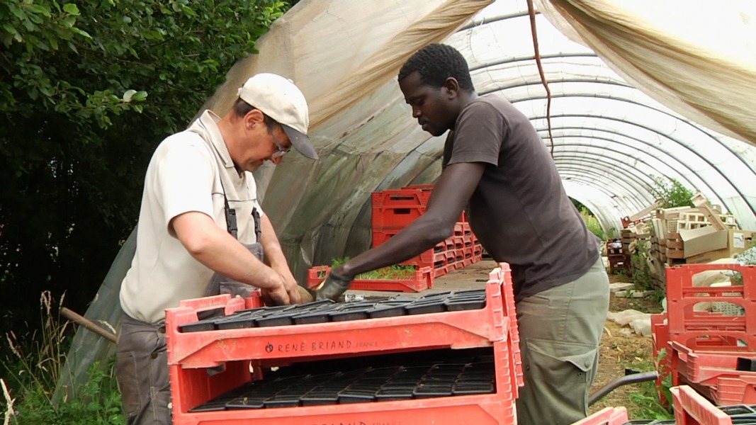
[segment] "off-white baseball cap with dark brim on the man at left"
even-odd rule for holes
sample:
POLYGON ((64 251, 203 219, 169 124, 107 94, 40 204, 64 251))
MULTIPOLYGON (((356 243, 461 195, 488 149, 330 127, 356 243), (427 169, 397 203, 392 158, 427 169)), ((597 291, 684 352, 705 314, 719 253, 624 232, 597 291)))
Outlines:
POLYGON ((318 159, 307 136, 310 124, 307 101, 292 80, 271 73, 256 74, 246 80, 237 94, 243 101, 280 123, 300 154, 318 159))

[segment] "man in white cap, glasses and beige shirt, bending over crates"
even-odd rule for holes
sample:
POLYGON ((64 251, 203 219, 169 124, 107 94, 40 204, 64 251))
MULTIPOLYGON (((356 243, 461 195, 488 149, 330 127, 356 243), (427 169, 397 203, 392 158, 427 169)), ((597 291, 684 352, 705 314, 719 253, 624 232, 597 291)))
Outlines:
POLYGON ((259 288, 267 304, 302 302, 251 172, 293 147, 318 159, 308 107, 289 79, 249 78, 222 118, 206 110, 166 138, 144 181, 137 249, 123 279, 117 377, 126 423, 170 423, 165 310, 181 299, 259 288))

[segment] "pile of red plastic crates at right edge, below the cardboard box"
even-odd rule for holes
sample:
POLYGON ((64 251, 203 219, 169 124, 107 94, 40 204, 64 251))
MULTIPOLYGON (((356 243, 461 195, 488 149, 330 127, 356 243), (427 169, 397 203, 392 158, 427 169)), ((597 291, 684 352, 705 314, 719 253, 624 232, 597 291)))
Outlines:
POLYGON ((687 384, 717 405, 756 403, 756 266, 690 264, 667 268, 668 311, 652 316, 653 347, 672 385, 687 384), (703 271, 739 272, 743 284, 696 287, 703 271), (704 302, 740 306, 742 315, 694 309, 704 302), (666 319, 666 323, 665 323, 666 319))

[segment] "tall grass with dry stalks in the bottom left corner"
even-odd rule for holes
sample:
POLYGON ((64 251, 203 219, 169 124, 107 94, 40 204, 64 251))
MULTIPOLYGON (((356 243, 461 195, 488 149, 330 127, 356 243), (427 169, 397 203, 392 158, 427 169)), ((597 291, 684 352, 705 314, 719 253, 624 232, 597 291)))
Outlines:
MULTIPOLYGON (((57 310, 62 304, 60 299, 57 310)), ((70 345, 67 336, 72 329, 70 322, 60 321, 53 311, 54 300, 48 291, 42 293, 40 307, 41 330, 21 337, 15 332, 5 335, 11 355, 3 362, 6 377, 0 379, 3 425, 124 423, 113 359, 107 365, 91 365, 87 382, 74 389, 73 396, 57 405, 52 402, 70 345)))

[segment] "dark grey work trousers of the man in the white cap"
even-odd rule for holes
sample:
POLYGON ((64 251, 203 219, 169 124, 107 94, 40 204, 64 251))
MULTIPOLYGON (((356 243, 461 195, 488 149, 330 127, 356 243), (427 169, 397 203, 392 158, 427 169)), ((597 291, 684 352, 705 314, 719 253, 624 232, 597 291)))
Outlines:
POLYGON ((124 314, 118 339, 116 377, 128 425, 169 425, 171 381, 166 325, 124 314))

